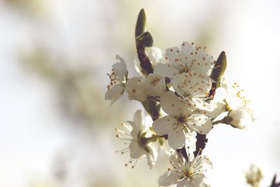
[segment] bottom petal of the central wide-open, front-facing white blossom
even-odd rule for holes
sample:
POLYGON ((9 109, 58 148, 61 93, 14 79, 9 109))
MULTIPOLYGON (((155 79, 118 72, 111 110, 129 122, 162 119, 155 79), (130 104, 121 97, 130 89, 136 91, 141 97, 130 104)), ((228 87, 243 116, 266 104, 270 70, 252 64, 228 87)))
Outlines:
POLYGON ((170 130, 168 132, 168 144, 174 149, 182 148, 186 142, 186 133, 184 130, 170 130))

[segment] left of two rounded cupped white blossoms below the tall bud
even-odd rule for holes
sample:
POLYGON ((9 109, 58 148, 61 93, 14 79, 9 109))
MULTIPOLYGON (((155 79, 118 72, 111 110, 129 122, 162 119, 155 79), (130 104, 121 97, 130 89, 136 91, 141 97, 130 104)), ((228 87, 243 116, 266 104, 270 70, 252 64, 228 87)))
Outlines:
POLYGON ((128 99, 144 102, 148 96, 145 86, 145 78, 134 76, 125 83, 125 91, 128 93, 128 99))

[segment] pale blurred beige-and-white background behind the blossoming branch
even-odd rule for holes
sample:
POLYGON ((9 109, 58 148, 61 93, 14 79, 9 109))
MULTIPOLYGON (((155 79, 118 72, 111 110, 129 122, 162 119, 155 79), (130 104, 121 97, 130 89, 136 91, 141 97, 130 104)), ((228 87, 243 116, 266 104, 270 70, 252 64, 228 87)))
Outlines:
POLYGON ((219 125, 204 153, 211 186, 246 186, 251 163, 262 186, 280 175, 280 1, 0 0, 0 186, 158 186, 162 154, 125 167, 114 128, 137 102, 110 106, 104 93, 116 54, 134 70, 134 25, 144 8, 155 46, 182 41, 225 50, 228 81, 238 81, 257 120, 247 130, 219 125))

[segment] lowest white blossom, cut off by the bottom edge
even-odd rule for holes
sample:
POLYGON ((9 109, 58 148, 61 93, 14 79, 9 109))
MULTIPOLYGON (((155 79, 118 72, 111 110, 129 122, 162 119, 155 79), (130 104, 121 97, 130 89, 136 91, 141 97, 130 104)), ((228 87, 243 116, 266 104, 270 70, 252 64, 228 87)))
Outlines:
POLYGON ((170 156, 170 163, 172 168, 158 179, 160 186, 173 184, 176 184, 177 187, 203 186, 203 180, 206 178, 205 172, 213 167, 206 156, 197 155, 190 161, 190 158, 186 160, 176 152, 170 156))

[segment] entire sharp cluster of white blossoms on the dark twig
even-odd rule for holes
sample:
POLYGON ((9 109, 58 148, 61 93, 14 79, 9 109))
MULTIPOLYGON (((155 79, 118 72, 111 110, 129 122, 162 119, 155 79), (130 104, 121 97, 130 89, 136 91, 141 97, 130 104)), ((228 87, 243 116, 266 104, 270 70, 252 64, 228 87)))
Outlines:
POLYGON ((140 158, 146 158, 152 168, 162 149, 172 167, 158 179, 160 186, 207 186, 204 179, 212 168, 202 154, 207 134, 218 123, 244 129, 254 120, 244 90, 237 83, 229 87, 223 78, 224 52, 214 60, 206 48, 183 41, 180 47, 162 53, 159 48, 146 48, 149 42, 144 36, 150 35, 144 32, 136 37, 134 62, 139 75, 129 76, 120 56, 109 74, 105 99, 113 103, 127 93, 128 99, 141 102, 146 111, 142 116, 137 110, 132 121, 116 128, 116 137, 127 145, 117 152, 130 153, 126 166, 134 168, 140 158), (215 95, 218 90, 220 97, 215 95))

